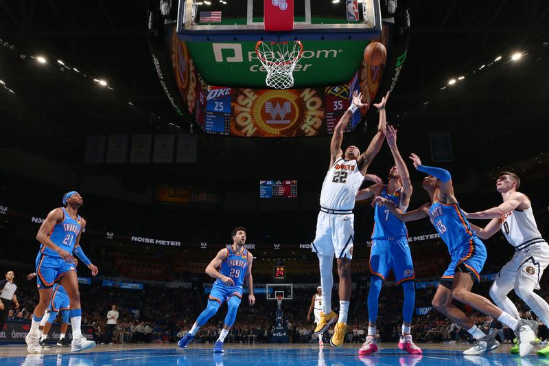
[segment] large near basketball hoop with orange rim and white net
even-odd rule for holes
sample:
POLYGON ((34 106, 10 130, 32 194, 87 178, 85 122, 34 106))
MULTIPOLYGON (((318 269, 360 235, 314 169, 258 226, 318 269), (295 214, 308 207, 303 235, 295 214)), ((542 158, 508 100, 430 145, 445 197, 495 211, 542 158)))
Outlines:
POLYGON ((267 70, 265 82, 268 87, 288 89, 294 86, 294 68, 303 55, 301 41, 259 41, 255 45, 255 53, 267 70))

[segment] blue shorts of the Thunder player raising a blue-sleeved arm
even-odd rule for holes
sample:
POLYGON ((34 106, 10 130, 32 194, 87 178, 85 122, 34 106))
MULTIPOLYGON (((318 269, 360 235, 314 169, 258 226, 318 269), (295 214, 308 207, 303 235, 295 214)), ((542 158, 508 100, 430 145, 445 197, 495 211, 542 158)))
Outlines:
POLYGON ((452 262, 441 277, 441 280, 452 281, 456 271, 471 273, 477 282, 480 282, 480 271, 486 262, 487 253, 484 243, 477 237, 457 247, 450 253, 452 262))

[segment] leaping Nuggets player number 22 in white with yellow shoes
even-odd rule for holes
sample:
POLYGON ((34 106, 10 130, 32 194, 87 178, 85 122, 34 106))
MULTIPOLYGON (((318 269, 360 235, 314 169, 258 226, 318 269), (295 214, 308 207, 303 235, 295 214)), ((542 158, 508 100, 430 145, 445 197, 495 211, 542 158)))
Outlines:
MULTIPOLYGON (((347 329, 347 312, 351 298, 351 258, 353 258, 353 208, 355 195, 364 179, 372 159, 377 155, 385 138, 386 129, 385 103, 389 94, 382 98, 379 104, 379 126, 366 152, 360 154, 356 146, 349 146, 343 154, 341 142, 343 131, 349 119, 358 108, 366 106, 362 103, 362 94, 353 93, 349 109, 341 117, 334 128, 330 144, 330 165, 320 193, 320 213, 316 222, 316 236, 312 243, 312 251, 318 255, 320 262, 320 285, 322 286, 323 311, 320 312, 320 322, 314 334, 325 332, 330 324, 338 320, 338 315, 331 310, 331 289, 334 286, 332 266, 334 255, 338 263, 340 315, 331 345, 340 347, 343 344, 347 329)), ((369 176, 376 183, 381 180, 369 176)))

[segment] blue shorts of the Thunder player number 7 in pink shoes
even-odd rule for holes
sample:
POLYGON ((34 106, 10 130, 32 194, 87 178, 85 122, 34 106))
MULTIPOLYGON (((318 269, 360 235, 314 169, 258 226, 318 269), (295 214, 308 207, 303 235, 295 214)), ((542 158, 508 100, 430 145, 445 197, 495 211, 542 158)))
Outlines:
POLYGON ((407 238, 396 240, 372 240, 370 251, 370 272, 385 281, 393 269, 397 284, 414 279, 414 264, 407 238))

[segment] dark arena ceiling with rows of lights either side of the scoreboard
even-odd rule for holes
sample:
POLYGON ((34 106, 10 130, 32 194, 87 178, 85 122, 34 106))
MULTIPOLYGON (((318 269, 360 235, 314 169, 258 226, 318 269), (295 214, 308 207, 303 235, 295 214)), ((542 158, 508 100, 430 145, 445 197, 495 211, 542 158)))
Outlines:
MULTIPOLYGON (((388 104, 403 154, 414 151, 428 161, 428 132, 448 131, 454 163, 446 166, 452 170, 465 174, 497 166, 526 168, 534 157, 543 158, 539 166, 547 168, 549 3, 454 0, 410 5, 408 56, 388 104), (514 52, 523 57, 510 60, 514 52), (494 62, 498 56, 502 58, 494 62), (459 76, 465 78, 447 85, 459 76)), ((189 130, 165 98, 152 65, 148 6, 133 0, 0 0, 0 80, 15 92, 0 88, 2 146, 85 170, 86 135, 189 130), (31 57, 39 54, 55 67, 43 67, 31 57), (56 60, 69 67, 56 65, 56 60), (112 90, 90 82, 90 77, 106 80, 112 90)), ((355 132, 344 143, 365 148, 374 126, 372 115, 367 132, 355 132)), ((151 179, 167 176, 164 183, 176 183, 182 176, 230 182, 276 172, 281 179, 298 175, 320 184, 329 159, 327 137, 199 135, 198 164, 93 168, 150 174, 151 179)), ((373 168, 384 174, 390 161, 390 154, 383 152, 373 168)))

